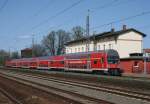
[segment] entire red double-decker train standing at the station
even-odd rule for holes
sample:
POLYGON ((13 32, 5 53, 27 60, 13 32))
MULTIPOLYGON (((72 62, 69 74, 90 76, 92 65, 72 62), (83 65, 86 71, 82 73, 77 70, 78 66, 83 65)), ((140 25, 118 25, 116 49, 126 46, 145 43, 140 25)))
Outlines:
POLYGON ((12 59, 6 61, 7 67, 30 69, 53 69, 64 71, 83 71, 121 75, 118 52, 112 49, 72 53, 60 56, 12 59))

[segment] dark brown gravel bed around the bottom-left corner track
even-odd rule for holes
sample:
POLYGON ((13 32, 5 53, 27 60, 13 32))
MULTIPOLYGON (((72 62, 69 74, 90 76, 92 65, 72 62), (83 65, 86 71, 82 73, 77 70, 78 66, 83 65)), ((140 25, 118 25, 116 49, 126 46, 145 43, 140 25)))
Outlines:
MULTIPOLYGON (((78 104, 3 77, 0 77, 0 83, 1 88, 18 98, 23 104, 78 104)), ((0 104, 12 103, 0 93, 0 104)))

